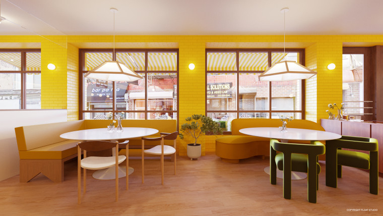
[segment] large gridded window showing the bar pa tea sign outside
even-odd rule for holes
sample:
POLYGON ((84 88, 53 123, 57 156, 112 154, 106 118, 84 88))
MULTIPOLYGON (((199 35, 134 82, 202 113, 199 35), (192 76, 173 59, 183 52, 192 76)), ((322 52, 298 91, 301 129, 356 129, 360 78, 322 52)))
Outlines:
POLYGON ((84 77, 89 70, 113 59, 111 49, 80 49, 80 57, 80 118, 103 119, 108 112, 124 112, 125 119, 178 119, 178 49, 116 49, 116 61, 143 77, 135 82, 84 77))

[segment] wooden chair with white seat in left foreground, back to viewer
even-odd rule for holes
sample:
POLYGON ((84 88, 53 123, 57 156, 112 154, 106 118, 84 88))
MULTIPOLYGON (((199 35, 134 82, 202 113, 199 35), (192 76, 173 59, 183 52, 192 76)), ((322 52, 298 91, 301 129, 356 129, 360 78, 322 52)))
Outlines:
MULTIPOLYGON (((127 142, 125 143, 126 145, 127 142)), ((77 195, 78 202, 81 203, 81 168, 84 169, 84 194, 86 192, 86 170, 101 170, 115 166, 115 184, 116 184, 116 201, 118 201, 118 165, 122 163, 126 159, 126 173, 129 155, 128 151, 126 151, 126 155, 118 155, 118 142, 107 142, 107 141, 85 141, 79 142, 77 144, 78 150, 78 181, 77 181, 77 195), (115 156, 109 157, 98 157, 98 156, 90 156, 87 157, 87 151, 103 151, 107 149, 115 148, 115 156), (81 159, 81 149, 84 151, 84 158, 81 159)), ((126 189, 128 188, 128 176, 126 175, 126 189)))

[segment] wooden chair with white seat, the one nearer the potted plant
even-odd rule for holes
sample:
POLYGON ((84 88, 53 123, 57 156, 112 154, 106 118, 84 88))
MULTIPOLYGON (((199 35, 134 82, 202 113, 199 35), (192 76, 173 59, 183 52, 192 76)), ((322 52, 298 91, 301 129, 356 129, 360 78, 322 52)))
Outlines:
POLYGON ((161 184, 164 185, 164 155, 174 154, 174 175, 176 170, 176 139, 178 136, 178 131, 173 133, 160 133, 161 137, 157 138, 148 138, 142 137, 142 183, 144 183, 144 153, 161 155, 161 184), (148 150, 145 150, 145 140, 146 141, 161 141, 161 145, 154 146, 148 150), (164 140, 174 140, 174 147, 169 145, 164 145, 164 140))

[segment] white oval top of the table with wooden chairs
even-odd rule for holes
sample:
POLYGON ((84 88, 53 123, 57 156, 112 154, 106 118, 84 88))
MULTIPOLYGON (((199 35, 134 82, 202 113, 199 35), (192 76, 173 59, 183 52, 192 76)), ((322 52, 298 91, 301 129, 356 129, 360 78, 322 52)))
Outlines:
POLYGON ((106 128, 97 128, 81 131, 72 131, 65 134, 61 134, 60 137, 64 139, 73 140, 117 140, 149 136, 156 133, 158 133, 158 130, 153 128, 124 127, 122 132, 107 132, 106 128))

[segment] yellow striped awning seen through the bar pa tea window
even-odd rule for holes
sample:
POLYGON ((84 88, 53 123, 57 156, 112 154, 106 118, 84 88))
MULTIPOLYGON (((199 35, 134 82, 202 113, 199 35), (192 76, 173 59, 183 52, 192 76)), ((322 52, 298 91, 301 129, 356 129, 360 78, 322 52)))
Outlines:
MULTIPOLYGON (((93 70, 107 60, 112 61, 111 52, 86 52, 85 70, 93 70)), ((124 63, 133 71, 145 70, 145 52, 116 52, 116 61, 124 63)), ((148 52, 148 71, 176 70, 177 52, 148 52)))

